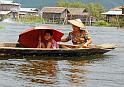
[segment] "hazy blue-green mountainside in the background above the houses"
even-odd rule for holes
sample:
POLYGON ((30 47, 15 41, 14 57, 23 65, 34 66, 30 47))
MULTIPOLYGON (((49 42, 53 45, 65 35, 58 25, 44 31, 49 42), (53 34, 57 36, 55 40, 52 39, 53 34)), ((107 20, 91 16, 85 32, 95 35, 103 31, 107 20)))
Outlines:
MULTIPOLYGON (((21 3, 24 7, 31 7, 31 8, 32 7, 34 7, 34 8, 41 7, 42 8, 44 6, 55 6, 56 1, 58 1, 58 0, 30 0, 30 2, 33 4, 29 3, 29 0, 14 0, 14 1, 21 3)), ((123 5, 123 3, 124 3, 124 0, 65 0, 65 1, 68 1, 68 2, 81 1, 81 2, 86 2, 86 3, 99 2, 99 3, 103 4, 107 9, 123 5)))

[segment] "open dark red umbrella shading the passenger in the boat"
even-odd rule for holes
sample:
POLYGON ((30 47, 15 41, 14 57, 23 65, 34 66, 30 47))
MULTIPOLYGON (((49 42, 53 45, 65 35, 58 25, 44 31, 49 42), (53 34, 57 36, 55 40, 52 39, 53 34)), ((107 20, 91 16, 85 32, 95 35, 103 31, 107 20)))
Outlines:
POLYGON ((23 47, 36 48, 39 42, 39 36, 41 36, 41 41, 43 41, 44 32, 47 29, 53 31, 53 39, 57 42, 59 42, 61 40, 61 37, 64 35, 62 32, 50 26, 33 27, 31 29, 22 32, 19 35, 18 42, 23 47))

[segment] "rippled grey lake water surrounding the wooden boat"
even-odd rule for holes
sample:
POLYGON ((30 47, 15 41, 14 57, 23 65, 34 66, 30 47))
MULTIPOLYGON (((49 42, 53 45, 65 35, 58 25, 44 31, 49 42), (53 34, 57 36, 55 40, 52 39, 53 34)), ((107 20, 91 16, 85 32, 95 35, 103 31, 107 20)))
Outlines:
MULTIPOLYGON (((17 42, 32 25, 0 23, 0 42, 17 42)), ((71 26, 51 25, 65 33, 71 26)), ((93 44, 118 47, 101 56, 69 59, 1 57, 0 87, 124 87, 124 29, 87 27, 93 44), (28 58, 28 59, 27 59, 28 58)))

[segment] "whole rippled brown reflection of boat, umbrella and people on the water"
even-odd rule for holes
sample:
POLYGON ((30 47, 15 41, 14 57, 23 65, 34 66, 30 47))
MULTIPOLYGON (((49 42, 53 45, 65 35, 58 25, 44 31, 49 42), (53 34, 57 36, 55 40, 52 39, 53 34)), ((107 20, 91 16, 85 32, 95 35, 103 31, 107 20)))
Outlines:
MULTIPOLYGON (((34 58, 34 57, 33 57, 34 58)), ((104 56, 96 56, 97 61, 104 56)), ((86 66, 93 63, 93 57, 61 59, 10 59, 0 63, 0 71, 14 73, 16 79, 27 84, 79 85, 87 82, 89 71, 86 66), (64 83, 64 84, 63 84, 64 83)), ((39 58, 38 58, 39 59, 39 58)), ((4 60, 3 60, 4 61, 4 60)), ((96 60, 95 60, 96 61, 96 60)))

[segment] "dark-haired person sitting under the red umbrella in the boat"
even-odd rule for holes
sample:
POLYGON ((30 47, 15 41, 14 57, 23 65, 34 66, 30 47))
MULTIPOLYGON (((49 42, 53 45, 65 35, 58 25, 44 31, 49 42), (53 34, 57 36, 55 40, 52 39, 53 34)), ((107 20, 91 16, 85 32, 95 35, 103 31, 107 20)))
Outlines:
POLYGON ((39 43, 37 48, 59 48, 57 42, 53 39, 53 31, 45 30, 44 32, 44 40, 41 41, 41 36, 39 36, 39 43))

